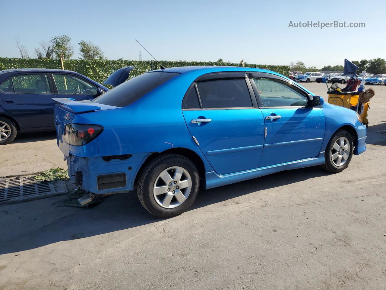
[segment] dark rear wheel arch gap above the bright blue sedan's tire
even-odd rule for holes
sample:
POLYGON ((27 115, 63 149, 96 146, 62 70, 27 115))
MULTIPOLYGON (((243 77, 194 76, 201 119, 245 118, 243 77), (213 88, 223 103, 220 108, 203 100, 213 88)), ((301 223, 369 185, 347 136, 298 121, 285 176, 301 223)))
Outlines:
POLYGON ((149 164, 152 160, 156 159, 158 156, 164 155, 164 154, 179 154, 186 158, 188 158, 193 164, 197 167, 198 175, 200 176, 201 186, 200 188, 206 188, 206 182, 205 182, 205 165, 202 161, 201 157, 194 152, 193 150, 187 149, 187 148, 171 148, 168 150, 164 150, 162 152, 154 152, 151 155, 149 155, 146 160, 143 162, 139 170, 137 171, 137 174, 135 175, 134 179, 134 187, 137 186, 138 177, 141 176, 142 171, 146 167, 147 164, 149 164))

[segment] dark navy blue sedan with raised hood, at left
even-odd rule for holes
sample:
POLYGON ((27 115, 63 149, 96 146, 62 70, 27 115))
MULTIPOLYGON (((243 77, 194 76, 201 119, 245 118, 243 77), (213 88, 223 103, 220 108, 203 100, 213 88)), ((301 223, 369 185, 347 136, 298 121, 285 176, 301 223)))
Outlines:
MULTIPOLYGON (((132 68, 114 72, 104 84, 115 86, 124 82, 132 68)), ((55 130, 52 98, 84 101, 107 90, 104 85, 68 70, 24 68, 1 71, 0 145, 12 142, 18 132, 55 130)))

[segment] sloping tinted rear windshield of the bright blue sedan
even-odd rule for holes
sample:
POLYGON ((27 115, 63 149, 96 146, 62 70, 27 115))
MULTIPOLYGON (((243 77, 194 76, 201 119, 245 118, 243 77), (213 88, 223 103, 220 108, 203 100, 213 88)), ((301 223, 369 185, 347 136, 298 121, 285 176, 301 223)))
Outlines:
POLYGON ((179 73, 143 73, 138 77, 132 78, 127 82, 108 90, 95 98, 93 102, 116 107, 125 107, 177 75, 179 75, 179 73))

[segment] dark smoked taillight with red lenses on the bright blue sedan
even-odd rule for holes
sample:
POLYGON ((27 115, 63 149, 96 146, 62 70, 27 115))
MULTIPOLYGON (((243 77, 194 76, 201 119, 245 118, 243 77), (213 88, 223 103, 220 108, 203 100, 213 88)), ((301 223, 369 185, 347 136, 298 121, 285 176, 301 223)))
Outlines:
POLYGON ((97 138, 102 131, 102 126, 70 123, 64 128, 63 135, 69 145, 82 146, 97 138))

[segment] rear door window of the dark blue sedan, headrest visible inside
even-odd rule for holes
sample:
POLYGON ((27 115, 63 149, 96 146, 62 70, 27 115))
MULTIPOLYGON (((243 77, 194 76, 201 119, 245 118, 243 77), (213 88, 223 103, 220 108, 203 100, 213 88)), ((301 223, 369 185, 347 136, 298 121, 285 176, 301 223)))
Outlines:
POLYGON ((48 78, 45 73, 17 75, 12 77, 15 93, 22 94, 51 94, 48 78))

